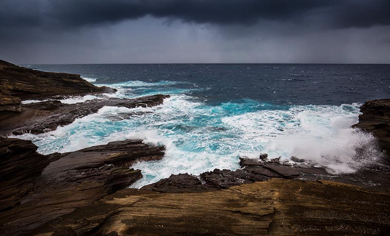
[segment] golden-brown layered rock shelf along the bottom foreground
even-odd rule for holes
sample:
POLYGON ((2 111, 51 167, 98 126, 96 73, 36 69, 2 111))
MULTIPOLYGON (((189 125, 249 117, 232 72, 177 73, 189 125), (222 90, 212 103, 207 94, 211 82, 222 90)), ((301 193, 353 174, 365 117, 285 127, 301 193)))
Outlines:
POLYGON ((32 235, 386 235, 389 195, 331 181, 273 178, 225 190, 124 189, 49 221, 32 235))

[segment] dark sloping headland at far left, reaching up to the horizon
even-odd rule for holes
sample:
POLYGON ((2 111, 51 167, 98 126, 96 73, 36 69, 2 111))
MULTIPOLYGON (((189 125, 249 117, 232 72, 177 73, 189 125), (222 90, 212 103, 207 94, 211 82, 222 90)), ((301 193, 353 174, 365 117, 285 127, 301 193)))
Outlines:
POLYGON ((27 69, 0 60, 0 111, 19 112, 20 100, 58 95, 110 93, 115 89, 97 87, 80 75, 27 69))

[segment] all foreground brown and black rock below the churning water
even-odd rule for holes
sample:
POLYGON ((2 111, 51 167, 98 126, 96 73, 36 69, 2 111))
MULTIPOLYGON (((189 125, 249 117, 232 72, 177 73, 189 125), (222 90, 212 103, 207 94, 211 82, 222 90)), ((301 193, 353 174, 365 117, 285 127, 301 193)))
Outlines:
POLYGON ((386 235, 390 229, 389 191, 302 180, 327 174, 321 168, 241 158, 236 171, 172 175, 124 189, 142 176, 129 166, 160 159, 162 147, 125 140, 44 156, 31 141, 0 141, 8 166, 1 177, 21 176, 10 182, 16 190, 28 186, 16 198, 15 189, 3 188, 0 235, 386 235))

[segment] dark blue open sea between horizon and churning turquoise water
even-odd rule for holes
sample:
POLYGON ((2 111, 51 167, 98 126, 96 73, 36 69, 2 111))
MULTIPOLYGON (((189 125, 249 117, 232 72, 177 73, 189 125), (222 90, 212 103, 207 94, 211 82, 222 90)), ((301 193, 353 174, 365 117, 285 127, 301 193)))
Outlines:
MULTIPOLYGON (((271 104, 364 102, 390 97, 390 65, 375 64, 88 64, 33 65, 96 83, 180 81, 175 88, 210 104, 254 99, 271 104), (196 89, 196 90, 193 90, 196 89)), ((169 85, 166 85, 169 88, 169 85)))

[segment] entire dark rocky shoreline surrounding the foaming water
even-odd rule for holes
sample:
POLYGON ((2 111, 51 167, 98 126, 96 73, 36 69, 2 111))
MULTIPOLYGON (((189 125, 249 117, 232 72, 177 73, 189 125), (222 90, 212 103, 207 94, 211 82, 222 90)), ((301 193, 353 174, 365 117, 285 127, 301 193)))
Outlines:
MULTIPOLYGON (((79 75, 39 72, 0 61, 0 136, 39 134, 96 113, 134 108, 168 96, 105 98, 63 104, 21 99, 115 92, 79 75), (4 83, 3 83, 4 82, 4 83), (42 83, 47 83, 45 90, 42 83), (74 89, 70 89, 74 88, 74 89), (40 91, 42 90, 42 91, 40 91), (40 92, 39 92, 40 91, 40 92), (49 92, 51 91, 51 92, 49 92)), ((390 99, 367 101, 355 127, 390 151, 390 99)), ((123 114, 123 118, 133 114, 123 114)), ((159 160, 164 147, 110 142, 41 155, 29 140, 0 138, 0 235, 387 235, 389 157, 349 175, 331 175, 295 157, 240 158, 240 169, 172 175, 127 189, 142 177, 130 167, 159 160)))

